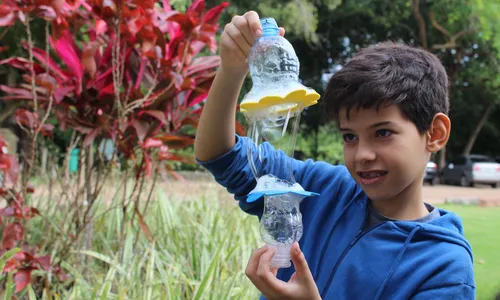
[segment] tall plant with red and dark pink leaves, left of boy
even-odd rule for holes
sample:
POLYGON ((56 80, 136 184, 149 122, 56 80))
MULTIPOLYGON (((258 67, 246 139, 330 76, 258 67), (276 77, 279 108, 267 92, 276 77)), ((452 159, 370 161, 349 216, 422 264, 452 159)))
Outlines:
MULTIPOLYGON (((215 36, 227 5, 223 2, 207 9, 203 0, 194 0, 181 13, 168 0, 2 2, 0 25, 23 22, 27 29, 27 39, 22 41, 27 57, 0 61, 23 72, 24 83, 0 85, 6 94, 3 100, 25 103, 16 112, 16 120, 32 138, 33 147, 24 170, 28 174, 23 177, 29 178, 33 170, 37 136, 50 137, 54 129, 47 124, 50 116, 57 119, 59 130, 73 133, 67 157, 75 147, 84 150, 81 156, 91 156, 94 144, 111 140, 112 160, 126 162, 125 180, 129 165, 135 175, 132 193, 122 200, 124 212, 132 208, 132 216, 123 215, 122 233, 128 216, 153 241, 143 216, 145 209, 141 212, 138 205, 144 178, 169 173, 180 179, 169 162, 193 162, 176 150, 194 142, 201 104, 220 63, 215 36), (31 38, 30 21, 37 18, 46 22, 45 49, 35 47, 31 38)), ((90 159, 80 161, 83 183, 78 182, 72 199, 74 213, 69 215, 73 226, 61 235, 60 260, 91 223, 91 208, 110 174, 111 168, 102 171, 90 159)), ((17 203, 14 198, 10 203, 17 203)), ((22 203, 16 205, 25 220, 27 215, 38 214, 29 208, 26 215, 22 203)), ((7 208, 14 209, 10 204, 7 208)), ((11 224, 12 233, 4 236, 18 241, 23 227, 11 224)), ((20 253, 14 257, 16 263, 10 262, 4 271, 23 270, 18 277, 29 278, 33 268, 49 266, 44 256, 20 253)), ((18 290, 23 287, 17 285, 18 290)))

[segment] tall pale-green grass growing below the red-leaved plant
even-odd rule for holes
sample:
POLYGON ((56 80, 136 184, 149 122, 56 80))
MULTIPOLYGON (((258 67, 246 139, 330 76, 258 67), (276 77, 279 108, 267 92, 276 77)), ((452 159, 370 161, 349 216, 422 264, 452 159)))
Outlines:
MULTIPOLYGON (((112 206, 113 207, 113 206, 112 206)), ((62 266, 73 282, 53 284, 42 299, 255 299, 246 263, 261 244, 258 220, 215 197, 175 201, 158 193, 149 204, 149 242, 139 226, 127 225, 120 245, 121 207, 94 223, 92 250, 73 249, 62 266)), ((62 217, 62 216, 59 216, 62 217)), ((62 218, 61 218, 62 219, 62 218)), ((31 223, 43 234, 42 224, 31 223)), ((41 238, 41 237, 40 237, 41 238)), ((47 237, 50 238, 50 237, 47 237)), ((5 274, 4 274, 5 276, 5 274)), ((55 281, 54 281, 55 282, 55 281)), ((10 294, 12 284, 7 284, 10 294)), ((31 298, 30 288, 21 296, 31 298)), ((33 294, 31 293, 31 296, 33 294)))

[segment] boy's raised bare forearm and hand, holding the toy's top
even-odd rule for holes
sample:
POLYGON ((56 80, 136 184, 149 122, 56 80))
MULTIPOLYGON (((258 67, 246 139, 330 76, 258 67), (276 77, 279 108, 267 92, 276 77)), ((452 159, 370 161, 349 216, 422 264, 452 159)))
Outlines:
MULTIPOLYGON (((261 34, 259 15, 254 11, 235 16, 224 27, 220 39, 221 65, 208 93, 194 144, 195 156, 200 161, 217 158, 235 144, 238 95, 248 73, 248 54, 261 34)), ((280 34, 284 34, 282 28, 280 34)))

